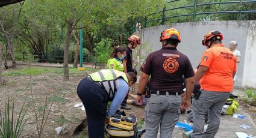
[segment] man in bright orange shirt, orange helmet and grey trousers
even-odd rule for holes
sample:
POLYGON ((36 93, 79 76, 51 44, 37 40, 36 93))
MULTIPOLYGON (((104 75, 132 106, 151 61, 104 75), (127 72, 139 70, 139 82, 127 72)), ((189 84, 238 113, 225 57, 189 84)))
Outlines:
POLYGON ((222 106, 233 89, 236 74, 236 57, 222 44, 223 35, 210 31, 204 36, 202 45, 207 50, 202 55, 200 67, 195 74, 195 83, 200 80, 201 95, 193 99, 193 138, 214 137, 219 130, 222 106), (209 113, 209 114, 208 114, 209 113), (208 128, 204 133, 205 115, 208 128))

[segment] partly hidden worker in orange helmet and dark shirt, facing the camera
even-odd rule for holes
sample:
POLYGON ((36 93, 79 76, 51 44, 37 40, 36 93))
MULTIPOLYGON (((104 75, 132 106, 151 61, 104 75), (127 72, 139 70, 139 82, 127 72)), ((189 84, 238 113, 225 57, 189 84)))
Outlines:
MULTIPOLYGON (((133 49, 135 49, 140 44, 140 37, 137 35, 131 35, 131 37, 128 38, 128 46, 126 46, 126 56, 123 59, 123 66, 125 73, 128 72, 134 72, 137 74, 137 71, 133 68, 133 49)), ((128 99, 128 95, 125 97, 125 100, 123 100, 123 103, 121 104, 121 109, 131 109, 126 103, 126 100, 128 99)))

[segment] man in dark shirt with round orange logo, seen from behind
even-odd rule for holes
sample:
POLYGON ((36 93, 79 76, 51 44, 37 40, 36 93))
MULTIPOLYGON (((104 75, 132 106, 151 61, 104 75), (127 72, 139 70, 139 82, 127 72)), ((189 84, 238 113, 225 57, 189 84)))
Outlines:
POLYGON ((137 104, 142 105, 142 92, 149 79, 151 97, 145 107, 145 138, 172 137, 172 131, 180 116, 180 106, 188 108, 193 91, 193 68, 189 58, 176 47, 181 42, 180 33, 174 28, 161 32, 162 48, 150 53, 140 70, 137 104), (181 104, 183 79, 187 82, 187 94, 181 104))

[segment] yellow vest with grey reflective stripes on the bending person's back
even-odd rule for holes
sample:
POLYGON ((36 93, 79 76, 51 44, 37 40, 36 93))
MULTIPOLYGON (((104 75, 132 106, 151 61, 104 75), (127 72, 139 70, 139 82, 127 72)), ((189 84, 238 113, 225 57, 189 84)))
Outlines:
POLYGON ((128 84, 126 74, 117 70, 101 70, 96 73, 89 74, 89 76, 94 82, 116 80, 117 78, 122 77, 123 80, 125 80, 125 82, 128 84))

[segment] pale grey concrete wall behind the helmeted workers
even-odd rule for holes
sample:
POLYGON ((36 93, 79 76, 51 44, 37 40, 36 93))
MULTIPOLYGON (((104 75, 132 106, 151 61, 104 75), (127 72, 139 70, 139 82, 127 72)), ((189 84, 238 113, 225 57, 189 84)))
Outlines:
MULTIPOLYGON (((222 32, 222 43, 228 48, 229 41, 238 42, 237 49, 241 52, 241 61, 238 64, 236 87, 256 87, 256 21, 215 21, 215 22, 188 22, 171 25, 153 26, 141 29, 135 34, 142 37, 145 48, 140 49, 141 57, 145 58, 149 52, 161 49, 160 33, 167 28, 176 28, 180 31, 181 43, 177 49, 190 59, 193 68, 199 64, 202 53, 206 50, 201 40, 211 30, 222 32), (246 61, 246 62, 245 62, 246 61), (254 73, 251 73, 254 71, 254 73)), ((140 61, 144 61, 141 59, 140 61)))

